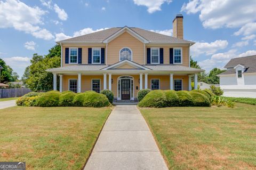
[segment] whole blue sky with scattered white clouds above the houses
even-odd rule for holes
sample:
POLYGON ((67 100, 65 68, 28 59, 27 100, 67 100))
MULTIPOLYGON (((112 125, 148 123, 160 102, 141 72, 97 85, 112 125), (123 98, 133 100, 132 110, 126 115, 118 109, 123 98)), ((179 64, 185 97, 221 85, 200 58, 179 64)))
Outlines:
POLYGON ((20 77, 34 53, 55 41, 110 27, 140 27, 172 35, 184 16, 191 55, 209 71, 231 59, 256 54, 255 0, 6 0, 0 1, 0 58, 20 77))

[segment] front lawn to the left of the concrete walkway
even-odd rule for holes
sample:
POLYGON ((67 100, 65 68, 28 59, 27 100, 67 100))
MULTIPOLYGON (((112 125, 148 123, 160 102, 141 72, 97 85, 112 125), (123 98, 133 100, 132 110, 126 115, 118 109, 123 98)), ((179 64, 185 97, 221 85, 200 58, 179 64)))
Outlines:
POLYGON ((0 161, 26 169, 81 169, 111 108, 11 107, 0 112, 0 161))

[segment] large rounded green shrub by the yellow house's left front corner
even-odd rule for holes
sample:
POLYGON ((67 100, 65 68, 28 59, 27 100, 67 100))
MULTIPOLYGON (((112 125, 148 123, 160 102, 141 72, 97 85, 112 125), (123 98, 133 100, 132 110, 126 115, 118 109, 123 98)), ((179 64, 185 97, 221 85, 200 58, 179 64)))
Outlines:
POLYGON ((61 93, 59 91, 49 91, 43 93, 36 101, 36 106, 39 107, 57 107, 59 106, 59 98, 61 93))

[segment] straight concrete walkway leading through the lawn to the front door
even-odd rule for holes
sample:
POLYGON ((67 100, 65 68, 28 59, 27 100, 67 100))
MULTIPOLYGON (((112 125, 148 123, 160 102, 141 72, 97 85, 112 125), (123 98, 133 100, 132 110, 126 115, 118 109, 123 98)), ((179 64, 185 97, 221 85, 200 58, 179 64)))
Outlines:
POLYGON ((167 169, 147 123, 135 105, 111 112, 84 169, 167 169))

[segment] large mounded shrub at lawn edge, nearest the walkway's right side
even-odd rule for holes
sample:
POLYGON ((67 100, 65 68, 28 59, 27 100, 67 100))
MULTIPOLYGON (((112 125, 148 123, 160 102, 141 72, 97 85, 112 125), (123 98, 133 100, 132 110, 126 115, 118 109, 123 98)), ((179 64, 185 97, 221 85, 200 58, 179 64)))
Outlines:
POLYGON ((163 108, 167 106, 165 92, 154 90, 149 92, 139 103, 139 107, 163 108))

